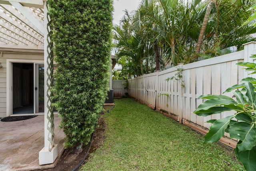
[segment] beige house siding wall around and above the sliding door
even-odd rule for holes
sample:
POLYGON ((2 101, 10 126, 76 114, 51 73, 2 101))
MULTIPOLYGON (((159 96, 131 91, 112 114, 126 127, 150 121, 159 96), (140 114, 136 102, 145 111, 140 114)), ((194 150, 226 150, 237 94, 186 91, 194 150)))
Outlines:
MULTIPOLYGON (((24 51, 24 50, 22 50, 24 51)), ((24 60, 29 62, 34 61, 42 61, 44 62, 44 54, 43 50, 26 50, 26 52, 20 52, 19 50, 1 50, 0 49, 0 65, 2 68, 0 68, 0 118, 9 116, 10 113, 7 113, 7 99, 10 99, 9 96, 9 90, 7 90, 8 82, 10 82, 10 74, 7 75, 7 70, 10 68, 8 66, 9 64, 7 61, 15 61, 15 62, 24 62, 24 60)), ((10 70, 10 69, 9 69, 10 70)))

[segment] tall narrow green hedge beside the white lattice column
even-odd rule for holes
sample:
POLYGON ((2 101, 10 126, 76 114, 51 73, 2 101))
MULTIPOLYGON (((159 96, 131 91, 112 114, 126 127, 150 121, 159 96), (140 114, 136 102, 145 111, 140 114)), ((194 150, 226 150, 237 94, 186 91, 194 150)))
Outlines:
POLYGON ((88 144, 107 95, 112 0, 48 0, 54 58, 53 104, 65 147, 88 144))

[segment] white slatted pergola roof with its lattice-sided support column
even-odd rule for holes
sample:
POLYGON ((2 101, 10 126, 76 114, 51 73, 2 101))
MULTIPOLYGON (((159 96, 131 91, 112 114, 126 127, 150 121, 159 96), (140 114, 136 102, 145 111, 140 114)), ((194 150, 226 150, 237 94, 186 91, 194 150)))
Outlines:
POLYGON ((0 48, 44 50, 44 148, 39 153, 39 164, 50 164, 58 156, 54 144, 54 115, 50 87, 53 83, 53 52, 50 42, 50 17, 47 0, 0 0, 0 48))

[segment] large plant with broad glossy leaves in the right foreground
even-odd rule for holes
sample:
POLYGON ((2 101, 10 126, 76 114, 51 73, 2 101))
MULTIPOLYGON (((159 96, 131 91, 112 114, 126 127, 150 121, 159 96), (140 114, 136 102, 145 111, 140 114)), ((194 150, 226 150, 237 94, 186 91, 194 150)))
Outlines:
MULTIPOLYGON (((256 55, 251 58, 256 59, 256 55)), ((256 64, 240 62, 246 71, 256 73, 256 64)), ((230 138, 238 139, 234 149, 238 160, 247 171, 256 170, 256 79, 244 78, 241 84, 233 85, 225 92, 233 91, 234 97, 226 95, 201 95, 200 99, 207 99, 194 111, 196 115, 208 116, 224 111, 236 111, 234 115, 207 121, 212 123, 209 132, 205 136, 205 143, 217 142, 223 137, 224 132, 230 134, 230 138)), ((224 92, 224 93, 225 93, 224 92)))

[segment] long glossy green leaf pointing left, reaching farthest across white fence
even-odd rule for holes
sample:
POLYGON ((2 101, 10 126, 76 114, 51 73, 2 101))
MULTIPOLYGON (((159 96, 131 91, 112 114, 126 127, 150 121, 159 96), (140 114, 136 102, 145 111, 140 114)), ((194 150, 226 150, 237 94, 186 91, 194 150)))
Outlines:
POLYGON ((220 106, 220 105, 236 105, 237 102, 234 101, 234 99, 208 99, 204 101, 204 103, 200 104, 198 108, 194 111, 194 113, 197 113, 197 111, 200 110, 208 110, 212 107, 220 106))

